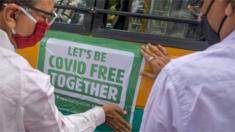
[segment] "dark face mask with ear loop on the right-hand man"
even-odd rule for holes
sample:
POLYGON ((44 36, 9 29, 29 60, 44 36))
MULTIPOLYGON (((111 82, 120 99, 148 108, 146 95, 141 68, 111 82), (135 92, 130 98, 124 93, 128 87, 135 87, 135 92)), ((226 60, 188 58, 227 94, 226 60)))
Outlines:
POLYGON ((211 1, 206 13, 202 16, 202 21, 201 21, 202 32, 203 32, 203 35, 204 35, 204 37, 205 37, 205 39, 206 39, 206 41, 208 42, 209 45, 213 45, 213 44, 218 43, 218 42, 221 41, 220 32, 221 32, 221 29, 224 25, 225 20, 227 19, 227 16, 224 16, 223 20, 220 23, 218 32, 214 31, 211 28, 211 26, 208 22, 207 15, 208 15, 212 5, 214 4, 214 2, 215 2, 215 0, 211 1))

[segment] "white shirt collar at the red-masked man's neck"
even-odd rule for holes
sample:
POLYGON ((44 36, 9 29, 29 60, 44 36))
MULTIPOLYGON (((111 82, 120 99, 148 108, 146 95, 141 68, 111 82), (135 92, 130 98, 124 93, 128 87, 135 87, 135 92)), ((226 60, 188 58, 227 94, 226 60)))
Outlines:
POLYGON ((7 33, 3 31, 2 29, 0 29, 0 40, 1 40, 1 43, 0 43, 1 48, 8 49, 10 51, 15 52, 15 48, 13 44, 11 43, 7 33))

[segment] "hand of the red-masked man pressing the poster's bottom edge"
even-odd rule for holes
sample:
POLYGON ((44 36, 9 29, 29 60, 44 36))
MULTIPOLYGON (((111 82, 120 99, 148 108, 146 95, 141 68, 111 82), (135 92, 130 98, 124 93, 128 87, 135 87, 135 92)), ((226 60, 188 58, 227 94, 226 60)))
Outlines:
POLYGON ((122 118, 127 112, 122 108, 108 104, 103 106, 105 112, 105 123, 116 132, 130 132, 130 125, 122 118))

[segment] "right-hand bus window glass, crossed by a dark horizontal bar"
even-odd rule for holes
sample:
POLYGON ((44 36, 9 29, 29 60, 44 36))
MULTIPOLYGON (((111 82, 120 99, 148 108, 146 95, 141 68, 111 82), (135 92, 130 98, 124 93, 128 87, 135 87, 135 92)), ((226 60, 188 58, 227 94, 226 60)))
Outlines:
MULTIPOLYGON (((141 13, 152 16, 197 20, 189 5, 200 4, 199 0, 109 0, 107 9, 141 13)), ((181 39, 201 39, 199 24, 177 23, 162 20, 141 19, 108 15, 107 28, 163 35, 181 39)))

